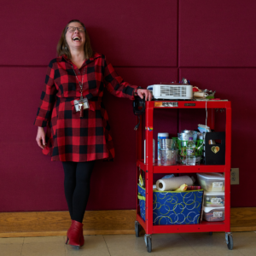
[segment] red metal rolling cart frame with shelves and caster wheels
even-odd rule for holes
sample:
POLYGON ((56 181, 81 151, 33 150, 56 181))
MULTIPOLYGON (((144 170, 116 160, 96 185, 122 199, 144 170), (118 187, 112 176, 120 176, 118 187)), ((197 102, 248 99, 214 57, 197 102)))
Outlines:
MULTIPOLYGON (((137 199, 137 221, 135 223, 136 236, 139 236, 141 227, 145 230, 145 243, 148 253, 152 250, 152 234, 159 233, 185 233, 185 232, 225 232, 225 240, 229 249, 233 248, 233 238, 230 233, 230 160, 231 160, 231 102, 228 101, 177 101, 177 102, 146 102, 145 127, 140 125, 137 130, 137 180, 140 172, 145 177, 145 221, 140 215, 139 200, 137 199), (224 165, 197 165, 197 166, 160 166, 158 161, 153 163, 153 133, 155 108, 204 108, 207 107, 207 125, 214 130, 215 109, 224 110, 226 113, 225 124, 225 155, 224 165), (146 139, 146 161, 143 159, 143 129, 146 139), (207 222, 202 220, 199 224, 153 224, 153 175, 154 173, 224 173, 224 221, 207 222)), ((156 154, 157 155, 157 154, 156 154)), ((138 195, 138 189, 137 189, 138 195)))

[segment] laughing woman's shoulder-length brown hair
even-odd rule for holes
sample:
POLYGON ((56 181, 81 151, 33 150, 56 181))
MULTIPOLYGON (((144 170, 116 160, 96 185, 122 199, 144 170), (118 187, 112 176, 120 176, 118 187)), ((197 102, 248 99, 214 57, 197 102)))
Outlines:
MULTIPOLYGON (((82 23, 80 20, 70 20, 67 23, 67 26, 72 22, 79 22, 82 26, 84 26, 84 23, 82 23)), ((63 29, 61 33, 61 38, 57 44, 57 55, 58 56, 67 55, 67 58, 71 59, 71 53, 66 40, 67 26, 65 26, 65 28, 63 29)), ((93 56, 93 50, 91 49, 91 46, 90 46, 90 38, 87 30, 85 29, 84 57, 85 59, 89 59, 92 56, 93 56)))

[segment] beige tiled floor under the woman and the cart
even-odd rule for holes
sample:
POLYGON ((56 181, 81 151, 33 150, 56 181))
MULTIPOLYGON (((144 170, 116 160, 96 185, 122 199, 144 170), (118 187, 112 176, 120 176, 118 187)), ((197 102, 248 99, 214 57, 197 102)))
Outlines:
POLYGON ((1 256, 218 256, 256 255, 256 232, 234 232, 234 248, 229 250, 224 233, 188 233, 152 236, 152 253, 148 253, 143 236, 84 236, 80 250, 65 244, 65 236, 0 238, 1 256))

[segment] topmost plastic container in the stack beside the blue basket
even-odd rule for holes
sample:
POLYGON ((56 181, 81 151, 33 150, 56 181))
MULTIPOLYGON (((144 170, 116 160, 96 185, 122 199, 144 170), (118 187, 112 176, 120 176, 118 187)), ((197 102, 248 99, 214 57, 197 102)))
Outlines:
POLYGON ((208 192, 224 191, 224 175, 217 172, 196 173, 201 188, 208 192))

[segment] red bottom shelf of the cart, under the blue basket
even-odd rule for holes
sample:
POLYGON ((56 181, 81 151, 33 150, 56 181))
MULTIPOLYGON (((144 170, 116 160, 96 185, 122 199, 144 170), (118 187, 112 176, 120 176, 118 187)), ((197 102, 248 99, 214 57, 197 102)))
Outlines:
MULTIPOLYGON (((147 233, 146 223, 143 221, 143 218, 137 215, 137 221, 143 226, 143 229, 147 233)), ((230 232, 230 225, 225 223, 225 221, 202 221, 200 224, 184 225, 152 225, 152 232, 149 232, 149 234, 189 232, 230 232)))

